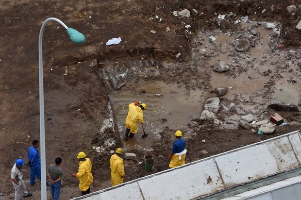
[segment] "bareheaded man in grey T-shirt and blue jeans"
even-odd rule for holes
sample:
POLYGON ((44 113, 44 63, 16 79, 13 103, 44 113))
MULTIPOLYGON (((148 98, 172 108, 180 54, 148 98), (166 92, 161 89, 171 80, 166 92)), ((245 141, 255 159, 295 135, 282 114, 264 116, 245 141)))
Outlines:
POLYGON ((63 179, 63 169, 60 167, 62 158, 55 158, 55 165, 51 164, 48 168, 48 177, 50 179, 50 192, 54 200, 60 199, 60 191, 63 179))

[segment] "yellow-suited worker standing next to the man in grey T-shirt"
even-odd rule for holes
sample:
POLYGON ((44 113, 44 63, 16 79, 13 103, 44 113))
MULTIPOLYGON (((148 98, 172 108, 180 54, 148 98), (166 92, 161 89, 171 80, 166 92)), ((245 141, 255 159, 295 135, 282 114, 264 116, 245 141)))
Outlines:
POLYGON ((93 182, 93 176, 91 173, 92 164, 89 158, 86 158, 84 152, 79 152, 78 159, 78 173, 73 173, 72 177, 78 177, 80 181, 79 188, 82 191, 82 196, 90 194, 90 185, 93 182))

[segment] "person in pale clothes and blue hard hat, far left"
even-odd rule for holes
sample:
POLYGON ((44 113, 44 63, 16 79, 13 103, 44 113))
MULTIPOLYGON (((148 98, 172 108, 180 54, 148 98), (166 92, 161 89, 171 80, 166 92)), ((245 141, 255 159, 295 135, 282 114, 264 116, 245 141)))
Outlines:
POLYGON ((16 190, 15 200, 19 200, 21 194, 23 195, 23 197, 33 196, 32 193, 27 192, 25 183, 23 181, 23 172, 26 171, 25 169, 22 169, 23 165, 24 161, 22 159, 17 159, 14 167, 11 170, 11 179, 16 190))

